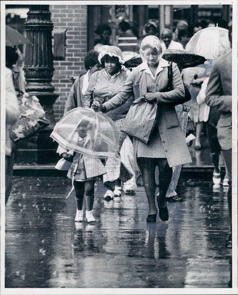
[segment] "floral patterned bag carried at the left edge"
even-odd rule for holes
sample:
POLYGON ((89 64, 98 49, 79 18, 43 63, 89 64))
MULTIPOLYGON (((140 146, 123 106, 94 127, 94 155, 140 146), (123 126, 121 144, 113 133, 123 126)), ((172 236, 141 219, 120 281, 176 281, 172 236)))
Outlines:
MULTIPOLYGON (((16 89, 16 91, 18 90, 16 89)), ((17 122, 9 127, 9 135, 14 142, 30 138, 50 125, 50 122, 45 118, 45 111, 35 95, 30 96, 19 91, 17 98, 20 115, 17 122)))

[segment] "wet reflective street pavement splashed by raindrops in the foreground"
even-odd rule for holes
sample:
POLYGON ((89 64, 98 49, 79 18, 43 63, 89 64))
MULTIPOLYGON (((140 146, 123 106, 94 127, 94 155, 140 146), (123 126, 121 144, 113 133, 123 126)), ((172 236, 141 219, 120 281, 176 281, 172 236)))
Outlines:
POLYGON ((169 221, 147 224, 143 187, 104 201, 96 183, 95 224, 75 223, 64 177, 14 177, 5 215, 6 288, 227 288, 232 250, 226 193, 182 180, 169 221))

